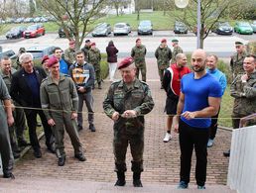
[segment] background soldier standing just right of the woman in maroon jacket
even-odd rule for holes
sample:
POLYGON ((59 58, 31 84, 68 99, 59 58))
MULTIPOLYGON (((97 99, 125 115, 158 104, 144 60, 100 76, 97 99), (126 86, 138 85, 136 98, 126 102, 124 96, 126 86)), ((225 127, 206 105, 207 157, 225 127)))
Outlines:
POLYGON ((136 40, 136 46, 132 48, 131 56, 133 57, 135 61, 135 66, 137 68, 136 76, 139 78, 139 74, 141 71, 142 81, 146 82, 146 61, 145 61, 145 55, 147 53, 147 49, 145 46, 141 44, 141 40, 136 40))

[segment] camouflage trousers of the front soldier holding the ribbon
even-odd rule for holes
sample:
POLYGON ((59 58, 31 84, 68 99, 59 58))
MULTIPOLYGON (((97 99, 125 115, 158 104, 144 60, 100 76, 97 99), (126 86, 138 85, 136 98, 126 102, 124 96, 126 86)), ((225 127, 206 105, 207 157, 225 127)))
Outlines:
POLYGON ((114 156, 115 156, 115 171, 124 172, 126 168, 126 152, 127 147, 130 145, 133 160, 132 171, 143 171, 143 151, 144 151, 144 128, 133 128, 137 132, 131 132, 126 127, 114 127, 114 156))

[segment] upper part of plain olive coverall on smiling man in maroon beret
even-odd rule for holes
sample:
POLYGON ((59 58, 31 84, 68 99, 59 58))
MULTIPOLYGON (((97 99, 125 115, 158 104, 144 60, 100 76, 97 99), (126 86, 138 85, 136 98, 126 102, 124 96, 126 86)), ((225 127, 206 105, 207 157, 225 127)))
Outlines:
POLYGON ((54 114, 63 114, 78 111, 78 95, 71 78, 61 75, 59 84, 51 76, 43 80, 40 87, 41 105, 47 120, 54 114), (51 111, 57 110, 57 111, 51 111))

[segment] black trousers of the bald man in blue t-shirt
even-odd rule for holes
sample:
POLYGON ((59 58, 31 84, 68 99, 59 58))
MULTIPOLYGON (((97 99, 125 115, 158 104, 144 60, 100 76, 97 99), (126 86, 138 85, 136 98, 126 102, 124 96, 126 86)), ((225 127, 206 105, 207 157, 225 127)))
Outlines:
POLYGON ((195 180, 197 185, 202 186, 206 181, 208 128, 196 129, 181 120, 179 132, 181 147, 181 181, 185 181, 186 183, 190 182, 192 149, 194 147, 196 156, 195 180))

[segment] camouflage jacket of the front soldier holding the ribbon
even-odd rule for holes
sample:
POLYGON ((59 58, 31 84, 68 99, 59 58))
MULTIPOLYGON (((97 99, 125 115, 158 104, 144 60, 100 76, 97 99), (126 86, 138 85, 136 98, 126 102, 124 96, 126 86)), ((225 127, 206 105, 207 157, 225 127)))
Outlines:
POLYGON ((154 101, 149 86, 136 79, 132 88, 128 89, 123 80, 111 84, 103 102, 103 109, 108 117, 112 117, 116 111, 120 115, 126 110, 135 110, 136 118, 120 118, 115 122, 115 128, 126 126, 127 128, 144 128, 144 115, 152 111, 154 101))

